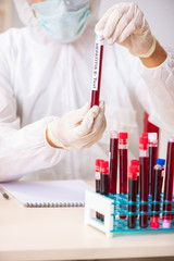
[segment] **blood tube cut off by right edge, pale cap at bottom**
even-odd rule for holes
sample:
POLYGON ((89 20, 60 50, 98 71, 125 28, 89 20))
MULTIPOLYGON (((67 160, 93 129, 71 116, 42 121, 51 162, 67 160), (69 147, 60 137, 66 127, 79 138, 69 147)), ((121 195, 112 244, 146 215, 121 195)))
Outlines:
MULTIPOLYGON (((167 142, 166 153, 166 169, 165 169, 165 183, 164 183, 164 201, 172 201, 173 199, 173 173, 174 173, 174 136, 167 142)), ((163 211, 172 211, 172 202, 163 204, 163 211)), ((170 228, 172 214, 163 213, 162 227, 170 228)))

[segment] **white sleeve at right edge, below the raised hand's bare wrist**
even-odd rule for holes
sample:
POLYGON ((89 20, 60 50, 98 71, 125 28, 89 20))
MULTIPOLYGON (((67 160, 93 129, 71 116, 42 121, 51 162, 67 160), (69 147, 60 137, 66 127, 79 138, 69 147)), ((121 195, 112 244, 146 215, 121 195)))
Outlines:
POLYGON ((136 94, 149 114, 149 121, 174 133, 174 50, 165 50, 166 60, 157 67, 140 64, 136 94))

